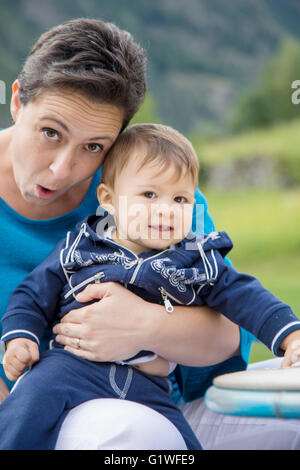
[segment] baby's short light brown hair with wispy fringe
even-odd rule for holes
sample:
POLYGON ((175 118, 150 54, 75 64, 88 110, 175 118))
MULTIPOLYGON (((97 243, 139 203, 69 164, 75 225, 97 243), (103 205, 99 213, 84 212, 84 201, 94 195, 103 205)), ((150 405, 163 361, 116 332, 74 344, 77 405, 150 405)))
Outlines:
POLYGON ((105 156, 101 182, 113 189, 117 175, 137 148, 141 150, 141 158, 136 162, 137 171, 151 162, 157 163, 158 173, 173 165, 178 179, 183 172, 190 173, 196 188, 199 161, 191 142, 177 130, 162 124, 128 127, 105 156))

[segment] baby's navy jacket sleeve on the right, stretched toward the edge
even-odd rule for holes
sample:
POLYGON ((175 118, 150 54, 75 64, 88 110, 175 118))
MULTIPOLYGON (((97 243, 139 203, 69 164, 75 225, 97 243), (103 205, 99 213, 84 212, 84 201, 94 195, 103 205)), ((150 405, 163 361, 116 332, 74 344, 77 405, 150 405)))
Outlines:
POLYGON ((300 321, 290 306, 256 278, 228 266, 218 250, 210 250, 205 256, 214 265, 215 275, 197 290, 202 301, 253 333, 274 354, 283 355, 282 340, 300 329, 300 321))

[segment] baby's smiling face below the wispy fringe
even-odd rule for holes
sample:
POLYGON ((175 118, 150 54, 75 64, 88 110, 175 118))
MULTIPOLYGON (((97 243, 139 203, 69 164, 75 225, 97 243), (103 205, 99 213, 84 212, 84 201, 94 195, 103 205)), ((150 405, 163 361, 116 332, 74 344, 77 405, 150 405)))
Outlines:
POLYGON ((159 173, 153 163, 137 172, 135 161, 133 156, 115 184, 117 237, 136 253, 163 250, 191 229, 193 179, 184 172, 178 179, 172 166, 159 173))

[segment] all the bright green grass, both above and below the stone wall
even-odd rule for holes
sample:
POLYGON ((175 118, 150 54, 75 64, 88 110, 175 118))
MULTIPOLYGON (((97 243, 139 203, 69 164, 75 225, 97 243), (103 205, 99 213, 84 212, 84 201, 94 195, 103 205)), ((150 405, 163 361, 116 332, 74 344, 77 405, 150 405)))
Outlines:
MULTIPOLYGON (((279 171, 300 182, 300 119, 266 129, 225 137, 215 142, 193 141, 205 167, 261 156, 279 163, 279 171)), ((300 318, 300 187, 293 189, 203 189, 217 230, 231 236, 230 259, 241 272, 256 276, 300 318)), ((273 357, 259 343, 250 362, 273 357)))

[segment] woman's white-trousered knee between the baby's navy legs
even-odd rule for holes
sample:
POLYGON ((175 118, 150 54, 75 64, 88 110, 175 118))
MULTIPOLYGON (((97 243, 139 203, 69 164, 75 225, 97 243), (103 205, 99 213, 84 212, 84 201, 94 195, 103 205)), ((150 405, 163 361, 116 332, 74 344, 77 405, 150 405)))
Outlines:
POLYGON ((167 418, 129 400, 99 398, 73 408, 56 450, 186 450, 167 418))

